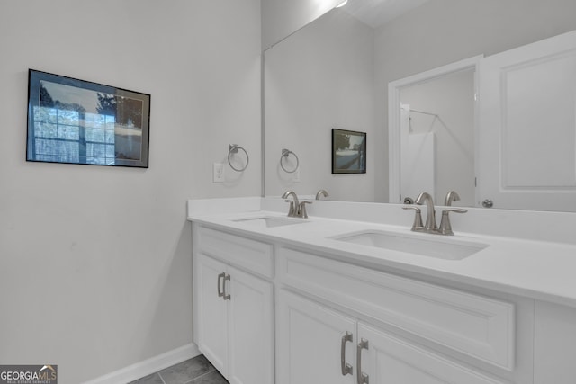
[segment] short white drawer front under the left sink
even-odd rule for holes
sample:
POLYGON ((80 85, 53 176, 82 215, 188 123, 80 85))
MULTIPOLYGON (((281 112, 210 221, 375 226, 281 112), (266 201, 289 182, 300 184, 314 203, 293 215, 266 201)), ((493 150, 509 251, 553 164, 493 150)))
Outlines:
POLYGON ((198 249, 231 265, 272 278, 274 246, 211 228, 198 228, 198 249))

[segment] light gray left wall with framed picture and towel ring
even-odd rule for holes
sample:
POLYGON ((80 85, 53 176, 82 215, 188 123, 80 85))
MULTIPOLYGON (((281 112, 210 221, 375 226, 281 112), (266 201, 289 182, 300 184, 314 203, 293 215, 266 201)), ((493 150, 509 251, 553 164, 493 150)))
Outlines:
POLYGON ((259 6, 0 2, 0 362, 78 383, 192 343, 185 202, 260 192, 259 6), (25 162, 29 67, 151 94, 149 169, 25 162))

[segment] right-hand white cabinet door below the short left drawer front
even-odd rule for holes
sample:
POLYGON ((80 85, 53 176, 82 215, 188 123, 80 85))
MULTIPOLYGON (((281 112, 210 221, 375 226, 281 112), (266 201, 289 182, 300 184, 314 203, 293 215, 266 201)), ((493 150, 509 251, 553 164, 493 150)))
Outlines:
POLYGON ((229 267, 229 369, 231 384, 274 382, 272 283, 229 267))

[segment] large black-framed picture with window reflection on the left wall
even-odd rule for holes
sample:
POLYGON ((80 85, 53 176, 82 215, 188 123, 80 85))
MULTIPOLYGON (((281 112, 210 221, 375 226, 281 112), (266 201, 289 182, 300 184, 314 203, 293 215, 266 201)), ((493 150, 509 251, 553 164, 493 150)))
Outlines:
POLYGON ((28 71, 26 161, 148 168, 150 95, 28 71))

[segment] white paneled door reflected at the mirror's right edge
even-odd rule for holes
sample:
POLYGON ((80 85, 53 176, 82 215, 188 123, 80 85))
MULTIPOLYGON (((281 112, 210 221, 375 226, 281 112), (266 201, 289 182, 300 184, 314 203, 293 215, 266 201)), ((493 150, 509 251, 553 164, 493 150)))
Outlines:
POLYGON ((576 211, 576 31, 480 64, 479 201, 576 211))

